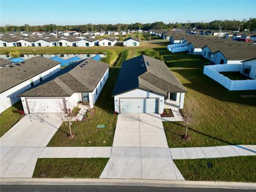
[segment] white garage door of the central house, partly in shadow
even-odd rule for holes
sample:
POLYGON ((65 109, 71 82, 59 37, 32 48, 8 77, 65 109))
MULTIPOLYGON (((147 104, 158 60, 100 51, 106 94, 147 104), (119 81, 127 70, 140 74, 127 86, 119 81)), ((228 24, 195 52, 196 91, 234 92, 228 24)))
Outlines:
POLYGON ((158 99, 120 99, 121 113, 158 113, 158 99))

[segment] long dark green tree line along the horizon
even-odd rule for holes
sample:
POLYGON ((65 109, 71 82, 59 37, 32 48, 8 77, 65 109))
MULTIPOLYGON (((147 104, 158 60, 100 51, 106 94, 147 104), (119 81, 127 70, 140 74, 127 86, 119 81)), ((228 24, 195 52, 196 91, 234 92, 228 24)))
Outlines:
POLYGON ((4 27, 0 27, 1 32, 5 31, 79 31, 79 32, 85 32, 85 31, 106 31, 106 30, 127 30, 127 29, 142 29, 142 30, 149 30, 149 29, 166 29, 170 30, 173 28, 179 28, 179 29, 219 29, 219 27, 222 27, 222 30, 235 30, 238 29, 240 31, 247 29, 247 30, 256 30, 256 18, 250 18, 250 19, 243 19, 242 21, 239 20, 214 20, 211 22, 190 22, 187 21, 186 23, 164 23, 162 21, 157 21, 153 23, 131 23, 131 24, 124 24, 124 23, 117 23, 115 25, 112 24, 98 24, 94 25, 92 23, 88 23, 85 25, 67 25, 67 26, 61 26, 61 25, 55 25, 55 24, 49 24, 49 25, 43 25, 43 26, 29 26, 28 24, 25 24, 23 26, 12 26, 12 25, 5 25, 4 27))

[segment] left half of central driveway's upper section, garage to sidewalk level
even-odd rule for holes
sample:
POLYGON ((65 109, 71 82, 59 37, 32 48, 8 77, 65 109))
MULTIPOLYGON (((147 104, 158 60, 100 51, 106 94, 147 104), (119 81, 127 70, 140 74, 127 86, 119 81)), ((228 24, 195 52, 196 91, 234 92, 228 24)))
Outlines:
POLYGON ((119 114, 113 147, 140 147, 139 114, 119 114))

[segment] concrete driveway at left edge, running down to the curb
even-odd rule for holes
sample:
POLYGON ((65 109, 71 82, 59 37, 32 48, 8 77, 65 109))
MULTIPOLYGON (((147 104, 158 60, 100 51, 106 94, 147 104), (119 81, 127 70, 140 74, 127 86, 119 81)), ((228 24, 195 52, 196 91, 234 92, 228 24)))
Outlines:
POLYGON ((62 121, 58 114, 29 114, 0 138, 0 177, 31 178, 44 147, 62 121))

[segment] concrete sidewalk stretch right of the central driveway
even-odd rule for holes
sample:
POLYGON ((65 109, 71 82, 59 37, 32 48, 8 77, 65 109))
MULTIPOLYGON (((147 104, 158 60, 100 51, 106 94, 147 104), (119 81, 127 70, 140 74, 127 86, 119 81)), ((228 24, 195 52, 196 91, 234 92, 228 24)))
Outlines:
POLYGON ((221 158, 256 155, 256 145, 170 148, 172 159, 221 158))

